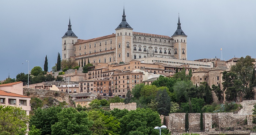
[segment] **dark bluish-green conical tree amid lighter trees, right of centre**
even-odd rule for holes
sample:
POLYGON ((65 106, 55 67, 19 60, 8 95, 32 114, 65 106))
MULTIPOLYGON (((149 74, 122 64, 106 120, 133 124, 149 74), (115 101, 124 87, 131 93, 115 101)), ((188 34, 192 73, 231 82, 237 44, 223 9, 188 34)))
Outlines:
POLYGON ((160 115, 167 116, 171 108, 171 99, 167 94, 166 89, 158 90, 155 101, 157 102, 157 112, 160 115))

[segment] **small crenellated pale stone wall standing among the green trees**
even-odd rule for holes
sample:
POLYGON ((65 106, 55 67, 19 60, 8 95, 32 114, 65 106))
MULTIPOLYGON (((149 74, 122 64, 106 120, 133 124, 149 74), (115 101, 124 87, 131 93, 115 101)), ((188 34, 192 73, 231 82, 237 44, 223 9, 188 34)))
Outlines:
POLYGON ((128 111, 131 111, 131 110, 136 110, 137 108, 137 103, 128 103, 128 104, 124 104, 124 103, 110 103, 110 106, 109 106, 110 110, 113 110, 114 108, 117 108, 117 109, 127 109, 128 111))

